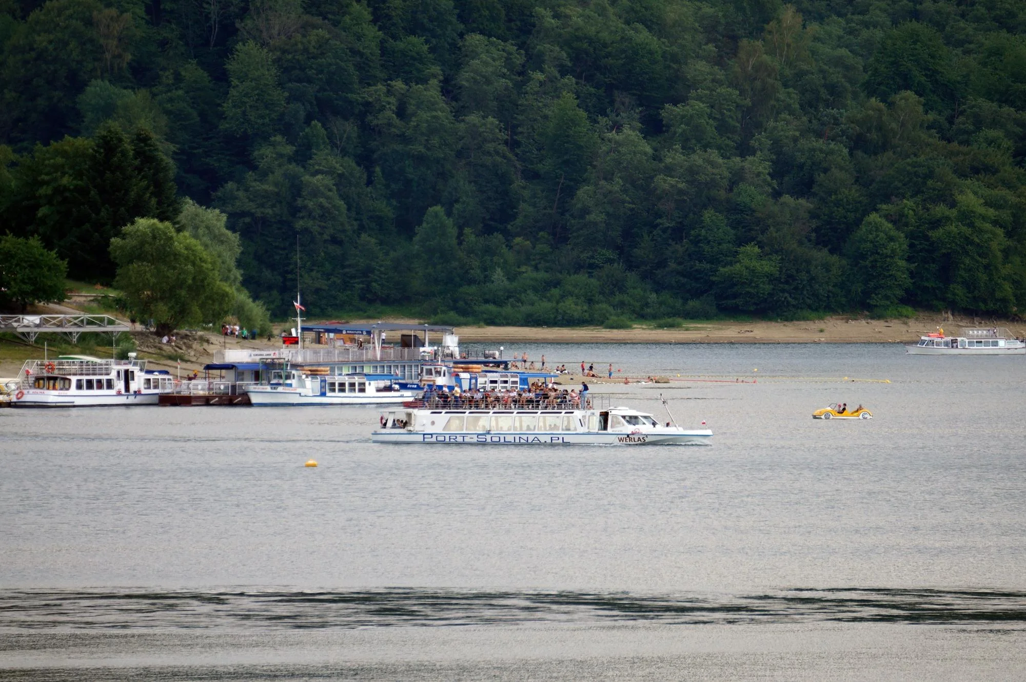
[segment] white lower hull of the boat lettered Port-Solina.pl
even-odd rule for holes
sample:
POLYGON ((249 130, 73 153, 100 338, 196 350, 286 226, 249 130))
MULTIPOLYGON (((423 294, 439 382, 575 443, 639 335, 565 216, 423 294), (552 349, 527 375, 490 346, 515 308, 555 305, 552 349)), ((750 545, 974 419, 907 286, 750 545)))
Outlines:
POLYGON ((661 430, 643 433, 425 433, 383 429, 372 442, 437 443, 448 445, 700 445, 710 444, 712 431, 661 430))

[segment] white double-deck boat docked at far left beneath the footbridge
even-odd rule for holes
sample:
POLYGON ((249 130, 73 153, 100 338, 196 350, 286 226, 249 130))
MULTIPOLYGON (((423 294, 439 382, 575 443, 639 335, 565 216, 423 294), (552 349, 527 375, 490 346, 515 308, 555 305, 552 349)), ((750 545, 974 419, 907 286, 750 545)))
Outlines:
POLYGON ((14 408, 97 408, 157 404, 166 370, 147 370, 146 360, 100 359, 61 355, 52 360, 26 360, 11 395, 14 408))

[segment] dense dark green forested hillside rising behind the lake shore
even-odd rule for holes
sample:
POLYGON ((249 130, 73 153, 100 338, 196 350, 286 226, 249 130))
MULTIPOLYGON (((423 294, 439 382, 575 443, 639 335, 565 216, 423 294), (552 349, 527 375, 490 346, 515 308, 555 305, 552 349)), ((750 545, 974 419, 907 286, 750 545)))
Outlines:
POLYGON ((80 279, 199 204, 276 314, 297 237, 315 315, 1026 307, 1021 0, 0 0, 0 232, 80 279))

